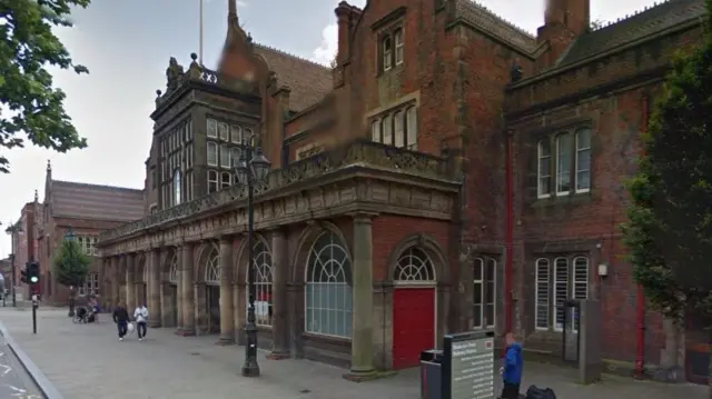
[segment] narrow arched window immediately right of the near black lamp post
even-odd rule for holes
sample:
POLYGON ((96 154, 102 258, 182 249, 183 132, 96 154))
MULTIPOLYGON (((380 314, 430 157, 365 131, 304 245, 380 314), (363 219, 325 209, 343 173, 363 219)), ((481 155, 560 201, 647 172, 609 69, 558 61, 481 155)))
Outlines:
MULTIPOLYGON (((257 240, 253 247, 253 272, 255 272, 255 316, 258 326, 271 326, 271 253, 267 245, 257 240)), ((249 281, 249 275, 245 273, 245 278, 249 281)), ((249 306, 249 291, 247 292, 249 306)))

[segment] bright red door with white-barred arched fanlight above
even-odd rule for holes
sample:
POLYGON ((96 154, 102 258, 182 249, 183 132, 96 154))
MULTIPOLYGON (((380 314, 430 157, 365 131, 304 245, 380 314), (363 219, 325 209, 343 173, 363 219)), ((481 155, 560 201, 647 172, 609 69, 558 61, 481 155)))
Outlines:
POLYGON ((393 368, 415 367, 421 352, 437 339, 433 261, 422 249, 411 247, 398 257, 393 281, 393 368))

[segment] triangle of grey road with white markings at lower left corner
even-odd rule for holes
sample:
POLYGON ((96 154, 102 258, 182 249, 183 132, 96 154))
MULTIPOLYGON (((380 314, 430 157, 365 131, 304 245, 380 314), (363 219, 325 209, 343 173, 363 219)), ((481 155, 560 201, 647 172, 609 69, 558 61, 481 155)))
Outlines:
POLYGON ((0 336, 0 398, 41 399, 34 381, 0 336))

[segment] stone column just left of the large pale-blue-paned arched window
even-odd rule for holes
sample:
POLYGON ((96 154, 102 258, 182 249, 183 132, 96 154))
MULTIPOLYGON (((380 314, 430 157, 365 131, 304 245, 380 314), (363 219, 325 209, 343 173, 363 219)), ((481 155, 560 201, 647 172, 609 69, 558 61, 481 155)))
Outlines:
POLYGON ((274 230, 271 233, 271 353, 267 358, 275 360, 289 357, 288 272, 287 238, 283 230, 274 230))

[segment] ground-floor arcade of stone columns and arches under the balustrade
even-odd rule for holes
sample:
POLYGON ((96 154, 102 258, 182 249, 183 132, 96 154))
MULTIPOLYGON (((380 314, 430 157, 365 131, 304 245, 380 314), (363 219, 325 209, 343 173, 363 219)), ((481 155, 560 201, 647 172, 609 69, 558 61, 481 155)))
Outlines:
MULTIPOLYGON (((376 217, 377 218, 377 217, 376 217)), ((374 217, 258 231, 253 248, 259 346, 367 375, 418 363, 447 329, 449 267, 426 233, 374 237, 374 217), (389 252, 375 259, 374 248, 389 252), (383 265, 382 265, 383 263, 383 265)), ((109 306, 147 303, 149 326, 244 341, 245 235, 103 258, 109 306)))

